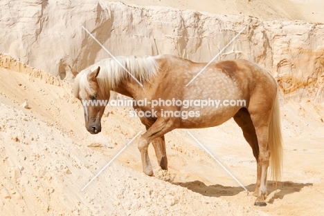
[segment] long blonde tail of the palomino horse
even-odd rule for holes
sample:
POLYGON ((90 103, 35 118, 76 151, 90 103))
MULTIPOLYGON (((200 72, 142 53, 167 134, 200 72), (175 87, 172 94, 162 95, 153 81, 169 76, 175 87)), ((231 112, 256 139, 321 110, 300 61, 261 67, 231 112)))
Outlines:
POLYGON ((282 157, 283 157, 283 148, 282 148, 282 135, 281 135, 281 126, 280 126, 280 106, 278 99, 278 92, 276 99, 273 103, 272 117, 269 124, 269 149, 270 149, 270 170, 273 177, 273 181, 276 181, 276 184, 281 179, 282 175, 282 157))

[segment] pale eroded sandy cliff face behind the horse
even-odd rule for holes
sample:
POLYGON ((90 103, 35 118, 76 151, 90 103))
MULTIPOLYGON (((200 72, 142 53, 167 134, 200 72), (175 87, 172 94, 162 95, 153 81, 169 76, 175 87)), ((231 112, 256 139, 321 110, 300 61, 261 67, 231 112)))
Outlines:
POLYGON ((110 1, 1 1, 0 52, 71 79, 113 55, 172 54, 210 61, 246 29, 217 60, 244 58, 277 77, 289 98, 324 100, 324 25, 261 21, 166 7, 110 1), (82 26, 84 28, 82 28, 82 26))

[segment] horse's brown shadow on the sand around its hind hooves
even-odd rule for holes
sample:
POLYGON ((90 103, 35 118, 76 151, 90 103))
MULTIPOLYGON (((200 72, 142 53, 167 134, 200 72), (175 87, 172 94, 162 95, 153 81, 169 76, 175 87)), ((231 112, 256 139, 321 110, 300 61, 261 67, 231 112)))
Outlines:
MULTIPOLYGON (((193 192, 200 193, 201 195, 207 197, 224 197, 237 195, 244 191, 240 186, 222 186, 219 184, 206 186, 202 181, 188 181, 188 182, 173 182, 174 185, 182 186, 192 190, 193 192)), ((268 181, 268 194, 272 193, 274 190, 275 195, 269 200, 272 203, 274 199, 282 199, 287 194, 299 192, 302 188, 312 186, 312 183, 296 183, 292 181, 280 181, 280 186, 273 186, 273 181, 268 181), (279 190, 278 190, 279 189, 279 190)), ((253 193, 255 190, 255 184, 250 184, 245 186, 249 192, 253 193)))

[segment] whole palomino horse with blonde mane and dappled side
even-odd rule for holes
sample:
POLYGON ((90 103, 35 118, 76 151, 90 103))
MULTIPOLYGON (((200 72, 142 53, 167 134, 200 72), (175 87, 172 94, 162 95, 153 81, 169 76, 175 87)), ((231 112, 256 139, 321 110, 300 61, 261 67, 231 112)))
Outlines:
MULTIPOLYGON (((277 83, 267 70, 250 61, 237 59, 211 63, 186 86, 204 66, 206 63, 195 63, 171 55, 104 59, 82 70, 75 77, 75 97, 82 101, 109 100, 110 90, 114 90, 136 101, 148 101, 143 106, 134 106, 145 113, 154 111, 154 115, 140 117, 147 130, 138 141, 138 149, 141 152, 143 172, 147 175, 153 174, 147 154, 147 147, 151 142, 159 165, 167 170, 165 133, 176 128, 219 126, 233 117, 242 128, 244 138, 251 146, 257 161, 257 181, 253 193, 257 197, 255 205, 265 206, 269 159, 273 179, 279 181, 282 173, 277 83), (218 107, 191 104, 184 107, 179 103, 179 100, 184 104, 185 100, 197 99, 240 99, 245 104, 218 107), (150 102, 154 100, 177 100, 178 103, 172 104, 173 106, 160 103, 152 110, 150 102), (165 115, 165 110, 168 110, 169 115, 165 115), (174 115, 170 115, 172 112, 174 115), (181 113, 191 115, 183 117, 181 113)), ((100 132, 100 119, 104 110, 105 106, 84 106, 85 126, 92 134, 100 132)))

